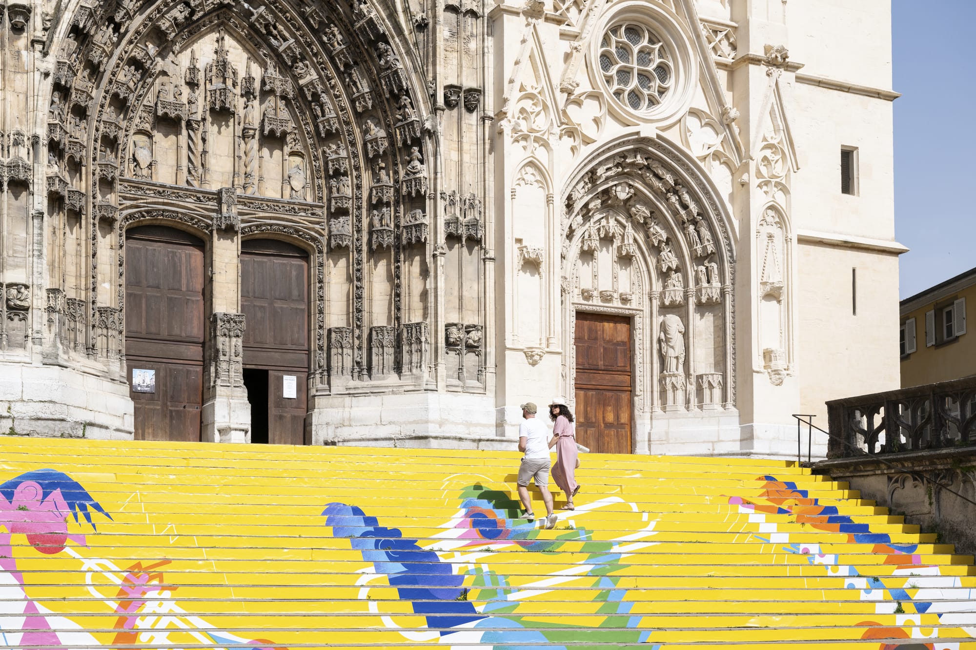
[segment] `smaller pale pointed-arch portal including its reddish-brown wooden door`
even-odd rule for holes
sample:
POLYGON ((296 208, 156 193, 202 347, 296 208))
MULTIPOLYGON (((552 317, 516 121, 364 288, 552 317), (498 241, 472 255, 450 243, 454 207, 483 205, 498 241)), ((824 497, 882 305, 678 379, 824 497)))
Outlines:
POLYGON ((653 439, 667 421, 734 408, 728 209, 663 138, 621 139, 580 169, 564 197, 567 396, 593 451, 647 449, 632 424, 653 439))

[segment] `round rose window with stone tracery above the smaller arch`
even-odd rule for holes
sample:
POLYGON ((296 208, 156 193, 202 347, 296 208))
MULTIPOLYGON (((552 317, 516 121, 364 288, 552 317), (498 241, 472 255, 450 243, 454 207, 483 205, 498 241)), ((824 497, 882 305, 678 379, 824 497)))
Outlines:
POLYGON ((653 110, 671 91, 671 57, 661 39, 641 24, 625 22, 608 29, 600 42, 599 62, 610 93, 631 110, 653 110))

